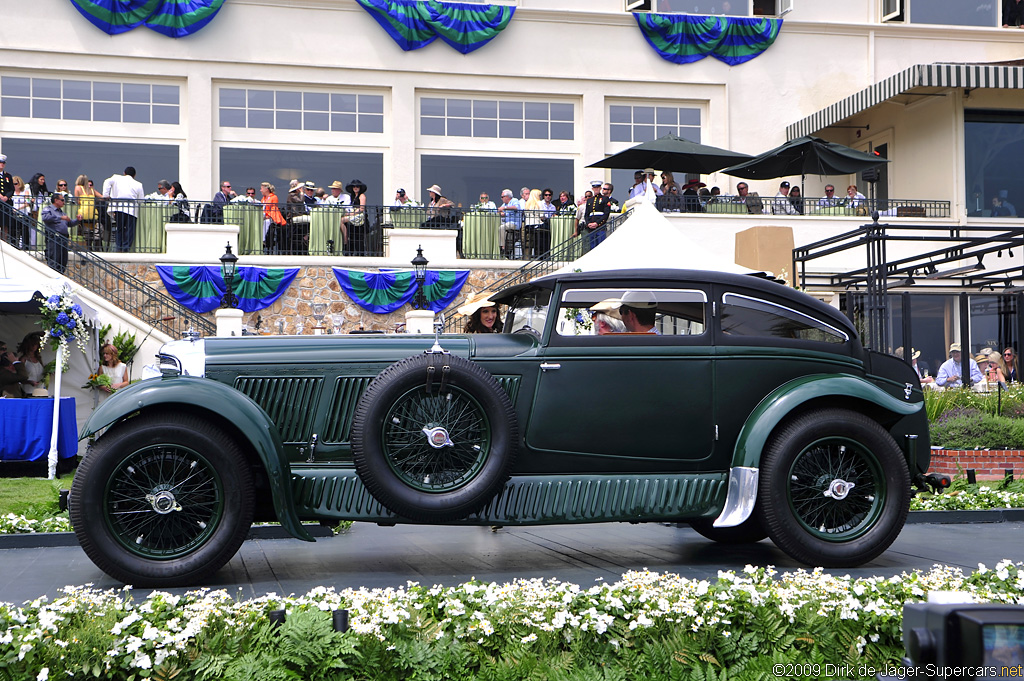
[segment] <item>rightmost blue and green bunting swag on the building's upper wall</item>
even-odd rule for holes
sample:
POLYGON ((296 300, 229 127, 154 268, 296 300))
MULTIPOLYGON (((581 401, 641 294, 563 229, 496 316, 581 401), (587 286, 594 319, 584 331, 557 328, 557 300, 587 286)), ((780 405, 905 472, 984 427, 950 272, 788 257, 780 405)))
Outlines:
POLYGON ((691 63, 706 56, 734 67, 768 49, 782 27, 780 18, 651 14, 633 16, 658 55, 675 63, 691 63))

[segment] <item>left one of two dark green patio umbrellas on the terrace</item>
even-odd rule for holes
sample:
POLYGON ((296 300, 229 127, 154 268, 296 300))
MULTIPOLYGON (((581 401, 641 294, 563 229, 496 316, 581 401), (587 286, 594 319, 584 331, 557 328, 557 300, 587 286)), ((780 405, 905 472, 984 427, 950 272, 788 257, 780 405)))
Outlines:
POLYGON ((749 154, 698 144, 678 135, 665 135, 649 142, 631 146, 625 152, 609 156, 588 168, 657 168, 707 175, 726 166, 751 159, 749 154))

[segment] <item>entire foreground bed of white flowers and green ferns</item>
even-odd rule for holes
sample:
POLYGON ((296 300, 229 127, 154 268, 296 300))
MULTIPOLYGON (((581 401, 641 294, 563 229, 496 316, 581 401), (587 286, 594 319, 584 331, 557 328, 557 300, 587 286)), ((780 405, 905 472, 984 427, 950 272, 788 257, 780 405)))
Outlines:
MULTIPOLYGON (((126 589, 128 589, 126 587, 126 589)), ((0 603, 0 678, 766 679, 778 664, 895 667, 902 606, 930 591, 1024 603, 1024 563, 852 579, 771 566, 687 580, 649 570, 555 580, 334 589, 240 600, 66 587, 0 603), (347 609, 336 632, 332 610, 347 609), (284 610, 284 624, 269 613, 284 610)))

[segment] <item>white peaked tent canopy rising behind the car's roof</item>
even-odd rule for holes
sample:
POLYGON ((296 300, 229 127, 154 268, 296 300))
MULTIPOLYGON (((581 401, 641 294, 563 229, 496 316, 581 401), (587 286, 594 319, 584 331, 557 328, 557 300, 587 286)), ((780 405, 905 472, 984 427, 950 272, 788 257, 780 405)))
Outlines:
POLYGON ((737 274, 757 272, 737 265, 725 255, 698 246, 674 227, 650 203, 643 201, 597 248, 566 264, 558 273, 637 268, 711 269, 737 274))

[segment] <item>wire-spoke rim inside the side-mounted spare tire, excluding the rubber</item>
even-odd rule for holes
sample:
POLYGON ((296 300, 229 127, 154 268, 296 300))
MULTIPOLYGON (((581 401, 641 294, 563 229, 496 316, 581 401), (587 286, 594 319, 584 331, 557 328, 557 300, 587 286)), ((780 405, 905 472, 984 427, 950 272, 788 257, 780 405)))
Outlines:
POLYGON ((473 479, 486 463, 490 424, 465 390, 427 394, 414 388, 388 412, 381 441, 388 464, 406 484, 449 492, 473 479))

